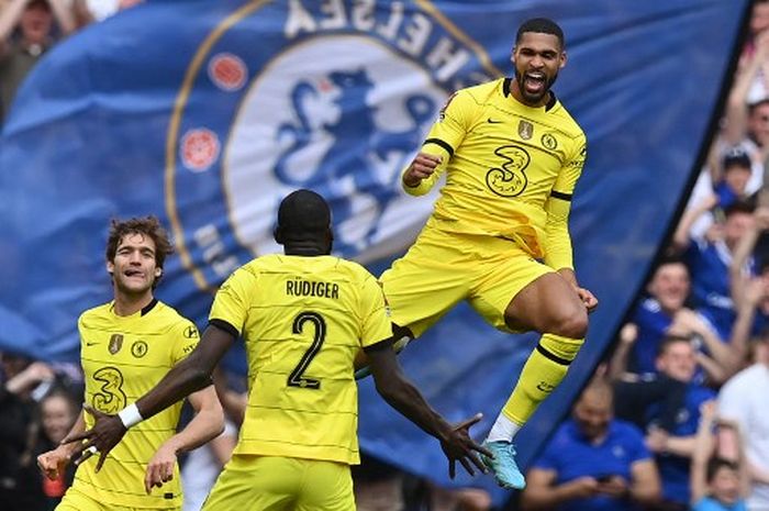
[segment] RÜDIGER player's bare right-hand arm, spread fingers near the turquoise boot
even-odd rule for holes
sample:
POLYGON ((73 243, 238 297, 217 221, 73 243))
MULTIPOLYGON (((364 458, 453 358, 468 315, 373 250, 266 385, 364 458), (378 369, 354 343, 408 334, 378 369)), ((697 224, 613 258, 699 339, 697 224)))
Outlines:
POLYGON ((475 475, 471 464, 479 470, 486 471, 483 464, 473 452, 492 455, 476 444, 469 435, 469 427, 480 421, 480 414, 457 426, 446 422, 403 375, 395 352, 392 349, 392 340, 367 347, 366 354, 370 360, 377 392, 406 419, 441 441, 441 447, 449 460, 448 474, 452 478, 455 476, 457 460, 470 475, 475 475))

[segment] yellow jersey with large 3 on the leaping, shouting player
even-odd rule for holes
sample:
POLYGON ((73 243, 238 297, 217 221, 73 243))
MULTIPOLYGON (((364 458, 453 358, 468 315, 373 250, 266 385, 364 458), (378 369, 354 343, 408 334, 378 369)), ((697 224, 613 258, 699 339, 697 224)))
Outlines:
POLYGON ((584 133, 555 96, 533 108, 510 86, 500 78, 449 98, 422 147, 442 163, 417 187, 403 188, 424 195, 445 171, 427 227, 506 237, 555 269, 571 268, 568 215, 584 133))

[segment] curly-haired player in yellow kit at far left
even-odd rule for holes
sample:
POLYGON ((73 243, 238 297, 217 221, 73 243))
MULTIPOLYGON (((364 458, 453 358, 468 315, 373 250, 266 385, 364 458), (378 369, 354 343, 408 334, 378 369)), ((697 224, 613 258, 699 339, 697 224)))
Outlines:
MULTIPOLYGON (((78 322, 86 410, 70 436, 92 426, 93 415, 116 413, 148 391, 198 344, 196 325, 153 293, 170 252, 157 219, 113 221, 107 270, 114 299, 83 312, 78 322)), ((224 429, 222 407, 208 384, 190 395, 196 415, 181 432, 176 433, 179 402, 131 430, 111 453, 86 460, 96 452, 89 449, 57 511, 181 509, 177 455, 224 429)), ((37 463, 45 476, 55 478, 80 457, 81 448, 78 443, 63 444, 40 455, 37 463)))

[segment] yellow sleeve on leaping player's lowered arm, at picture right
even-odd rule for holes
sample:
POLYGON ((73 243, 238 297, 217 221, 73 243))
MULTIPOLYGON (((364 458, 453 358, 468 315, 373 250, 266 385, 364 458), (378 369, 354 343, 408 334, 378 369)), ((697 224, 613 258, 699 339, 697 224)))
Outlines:
POLYGON ((555 269, 573 269, 573 252, 569 234, 569 212, 577 180, 582 174, 587 158, 587 140, 584 134, 573 141, 569 159, 564 164, 545 203, 547 221, 545 224, 545 243, 547 252, 545 264, 555 269))

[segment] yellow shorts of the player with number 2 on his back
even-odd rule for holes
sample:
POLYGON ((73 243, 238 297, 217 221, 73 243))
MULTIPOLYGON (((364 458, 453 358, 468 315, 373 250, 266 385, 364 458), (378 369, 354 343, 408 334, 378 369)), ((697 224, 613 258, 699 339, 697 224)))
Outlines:
POLYGON ((349 465, 234 455, 202 511, 355 511, 349 465))

